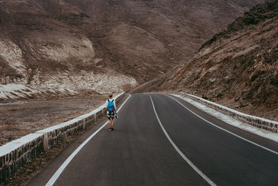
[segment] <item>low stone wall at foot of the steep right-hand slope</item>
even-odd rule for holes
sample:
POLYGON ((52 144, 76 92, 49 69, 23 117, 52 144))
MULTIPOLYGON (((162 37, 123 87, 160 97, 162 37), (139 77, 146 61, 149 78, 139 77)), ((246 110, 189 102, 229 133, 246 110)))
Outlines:
POLYGON ((230 109, 228 107, 224 107, 220 104, 217 104, 215 102, 210 102, 208 100, 204 100, 203 98, 199 98, 195 95, 190 95, 188 93, 181 93, 179 92, 180 95, 185 96, 186 98, 190 98, 192 100, 195 100, 197 102, 201 102, 202 104, 211 107, 212 109, 215 109, 217 111, 220 111, 224 114, 227 114, 233 118, 236 118, 239 121, 243 121, 244 123, 248 123, 250 125, 254 125, 256 127, 259 127, 263 130, 268 130, 272 131, 275 133, 278 133, 278 122, 276 121, 271 121, 265 118, 259 118, 256 116, 251 116, 248 114, 244 114, 240 111, 236 111, 234 109, 230 109))

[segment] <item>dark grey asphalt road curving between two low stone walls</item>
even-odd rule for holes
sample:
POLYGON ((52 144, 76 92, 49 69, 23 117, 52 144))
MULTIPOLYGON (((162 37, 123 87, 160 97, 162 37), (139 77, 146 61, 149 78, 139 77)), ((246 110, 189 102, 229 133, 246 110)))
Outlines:
MULTIPOLYGON (((99 130, 54 185, 278 185, 278 154, 264 149, 278 152, 277 143, 179 102, 167 95, 131 95, 115 130, 99 130)), ((67 146, 29 185, 46 185, 101 125, 67 146)))

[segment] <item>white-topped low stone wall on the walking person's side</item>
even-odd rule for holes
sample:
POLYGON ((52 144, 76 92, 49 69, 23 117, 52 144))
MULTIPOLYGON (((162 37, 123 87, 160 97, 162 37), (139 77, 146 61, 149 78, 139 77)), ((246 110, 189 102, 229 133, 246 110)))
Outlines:
MULTIPOLYGON (((115 102, 117 103, 123 95, 124 93, 116 95, 114 98, 115 102)), ((0 146, 0 183, 13 176, 20 167, 24 166, 26 162, 33 160, 42 151, 54 146, 57 141, 63 141, 71 134, 85 130, 95 123, 98 118, 105 115, 106 108, 104 105, 101 105, 101 107, 94 111, 74 118, 71 121, 39 130, 0 146)))

